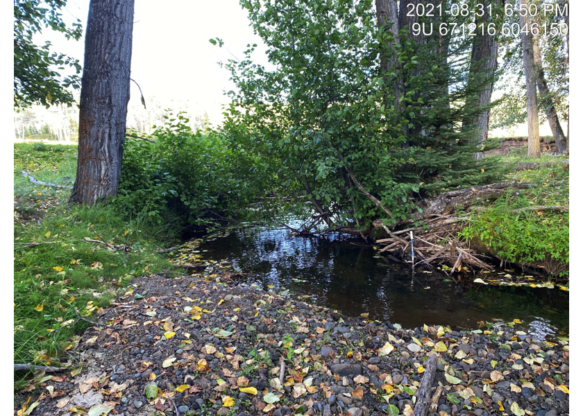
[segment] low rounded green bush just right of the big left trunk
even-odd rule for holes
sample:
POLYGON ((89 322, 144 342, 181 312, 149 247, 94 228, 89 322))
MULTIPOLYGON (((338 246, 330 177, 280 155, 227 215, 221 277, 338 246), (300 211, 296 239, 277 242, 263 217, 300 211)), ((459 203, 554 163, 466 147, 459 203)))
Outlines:
POLYGON ((183 114, 165 115, 151 141, 128 140, 121 181, 113 202, 126 212, 144 213, 156 223, 210 230, 226 225, 235 207, 246 204, 246 182, 223 137, 192 131, 183 114))

